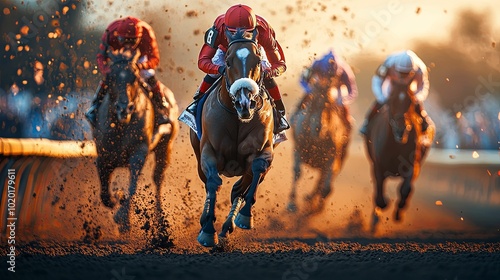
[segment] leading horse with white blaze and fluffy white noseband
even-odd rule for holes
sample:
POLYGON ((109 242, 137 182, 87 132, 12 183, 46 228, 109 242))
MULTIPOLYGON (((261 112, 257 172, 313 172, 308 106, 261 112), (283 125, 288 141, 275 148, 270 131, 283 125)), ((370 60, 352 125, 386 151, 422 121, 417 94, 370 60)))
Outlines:
POLYGON ((198 235, 198 242, 206 247, 218 244, 214 222, 220 175, 241 176, 233 186, 232 207, 220 233, 227 237, 235 225, 253 227, 257 187, 274 154, 273 110, 262 86, 261 54, 254 41, 237 38, 229 44, 221 85, 203 105, 201 140, 194 131, 190 134, 207 192, 198 235))

